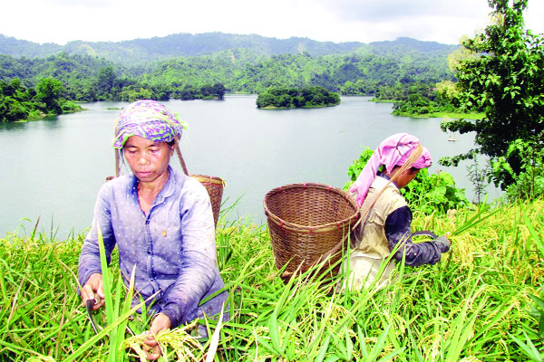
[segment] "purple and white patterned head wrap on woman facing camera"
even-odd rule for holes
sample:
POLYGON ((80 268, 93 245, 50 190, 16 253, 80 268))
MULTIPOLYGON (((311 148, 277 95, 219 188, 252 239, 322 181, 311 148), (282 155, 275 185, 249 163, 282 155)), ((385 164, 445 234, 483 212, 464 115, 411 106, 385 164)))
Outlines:
POLYGON ((170 113, 155 100, 137 100, 121 110, 117 118, 117 134, 113 148, 121 149, 131 136, 140 136, 155 142, 171 142, 187 124, 170 113))

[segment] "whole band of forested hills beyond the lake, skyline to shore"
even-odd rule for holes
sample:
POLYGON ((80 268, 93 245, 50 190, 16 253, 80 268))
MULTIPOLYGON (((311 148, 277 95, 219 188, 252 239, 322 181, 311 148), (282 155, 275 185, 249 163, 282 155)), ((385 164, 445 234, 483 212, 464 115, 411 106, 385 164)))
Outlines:
MULTIPOLYGON (((43 79, 62 82, 60 96, 81 101, 191 100, 211 97, 214 89, 260 93, 269 87, 314 86, 405 100, 412 88, 426 96, 434 94, 435 83, 455 80, 447 60, 454 48, 410 38, 320 43, 225 33, 60 46, 0 35, 0 89, 5 101, 43 79), (3 53, 5 48, 11 53, 3 53), (199 55, 179 55, 187 53, 199 55)), ((0 97, 0 110, 2 104, 0 97)))

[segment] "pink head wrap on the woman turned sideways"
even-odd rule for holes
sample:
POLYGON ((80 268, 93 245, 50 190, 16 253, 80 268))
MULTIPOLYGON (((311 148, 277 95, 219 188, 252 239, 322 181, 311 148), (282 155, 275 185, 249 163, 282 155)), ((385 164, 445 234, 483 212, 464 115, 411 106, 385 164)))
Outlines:
MULTIPOLYGON (((385 138, 374 150, 374 154, 364 166, 354 185, 349 188, 350 192, 357 192, 357 204, 363 205, 364 197, 366 197, 380 166, 384 165, 387 173, 391 173, 393 167, 403 166, 419 144, 419 138, 408 133, 397 133, 385 138)), ((427 148, 423 148, 422 156, 415 160, 412 167, 425 168, 431 167, 431 165, 431 153, 427 148)))

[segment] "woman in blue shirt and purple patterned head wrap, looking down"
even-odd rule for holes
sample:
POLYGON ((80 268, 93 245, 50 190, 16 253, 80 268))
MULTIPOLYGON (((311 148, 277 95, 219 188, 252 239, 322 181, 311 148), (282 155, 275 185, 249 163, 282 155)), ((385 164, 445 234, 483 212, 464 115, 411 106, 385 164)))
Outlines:
POLYGON ((199 306, 200 300, 223 288, 216 262, 215 227, 204 186, 169 166, 180 120, 154 100, 139 100, 121 111, 113 148, 131 167, 132 175, 105 183, 94 207, 92 229, 79 258, 83 303, 104 304, 98 232, 108 262, 119 248, 125 283, 135 266, 135 289, 152 299, 154 313, 149 359, 160 356, 152 338, 192 319, 219 313, 227 293, 199 306))

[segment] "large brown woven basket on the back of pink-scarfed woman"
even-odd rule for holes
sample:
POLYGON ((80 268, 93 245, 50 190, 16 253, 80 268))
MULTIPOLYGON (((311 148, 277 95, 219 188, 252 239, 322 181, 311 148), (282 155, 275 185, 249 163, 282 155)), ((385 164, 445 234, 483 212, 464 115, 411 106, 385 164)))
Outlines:
POLYGON ((343 249, 339 246, 347 243, 346 236, 359 218, 353 197, 323 184, 274 188, 264 205, 276 267, 281 269, 288 262, 287 274, 299 266, 304 272, 325 258, 324 268, 337 262, 343 249))

